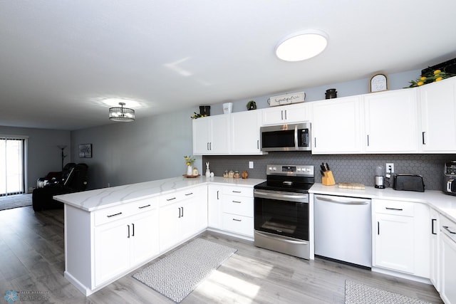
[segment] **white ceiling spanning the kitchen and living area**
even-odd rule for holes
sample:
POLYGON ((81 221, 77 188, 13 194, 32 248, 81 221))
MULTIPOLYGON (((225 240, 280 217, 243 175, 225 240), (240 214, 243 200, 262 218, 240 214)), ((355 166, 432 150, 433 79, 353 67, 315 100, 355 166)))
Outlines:
POLYGON ((120 123, 106 98, 136 100, 140 118, 425 68, 456 57, 455 11, 454 0, 0 0, 0 125, 78 130, 120 123), (276 58, 308 29, 327 34, 323 53, 276 58))

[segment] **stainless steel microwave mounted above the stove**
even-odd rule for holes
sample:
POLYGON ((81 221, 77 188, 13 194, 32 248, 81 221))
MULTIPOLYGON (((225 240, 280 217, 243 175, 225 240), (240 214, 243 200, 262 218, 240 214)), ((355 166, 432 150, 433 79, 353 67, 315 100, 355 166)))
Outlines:
POLYGON ((260 127, 261 151, 310 151, 311 123, 260 127))

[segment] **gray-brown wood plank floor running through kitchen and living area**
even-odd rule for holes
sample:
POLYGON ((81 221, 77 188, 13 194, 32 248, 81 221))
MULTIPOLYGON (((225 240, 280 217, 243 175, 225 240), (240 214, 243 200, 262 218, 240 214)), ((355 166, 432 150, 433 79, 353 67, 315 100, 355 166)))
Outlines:
MULTIPOLYGON (((432 287, 333 261, 306 261, 212 232, 199 237, 238 249, 182 303, 343 303, 352 280, 431 303, 432 287)), ((0 295, 46 291, 44 303, 173 303, 136 281, 134 272, 85 297, 63 278, 63 209, 0 211, 0 295)), ((36 302, 32 302, 36 303, 36 302)))

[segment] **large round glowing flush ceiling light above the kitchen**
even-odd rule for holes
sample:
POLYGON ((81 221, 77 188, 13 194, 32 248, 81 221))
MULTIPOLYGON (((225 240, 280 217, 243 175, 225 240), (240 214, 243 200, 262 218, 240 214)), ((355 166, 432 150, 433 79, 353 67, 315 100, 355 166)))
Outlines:
POLYGON ((283 61, 304 61, 323 52, 327 45, 326 33, 301 31, 286 36, 276 47, 276 56, 283 61))

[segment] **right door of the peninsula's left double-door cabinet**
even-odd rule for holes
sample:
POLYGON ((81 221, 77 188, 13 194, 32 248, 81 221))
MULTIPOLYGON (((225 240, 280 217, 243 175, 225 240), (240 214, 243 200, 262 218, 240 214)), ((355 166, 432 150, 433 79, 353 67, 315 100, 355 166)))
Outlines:
POLYGON ((157 209, 143 212, 131 220, 131 265, 138 265, 158 254, 157 209))

